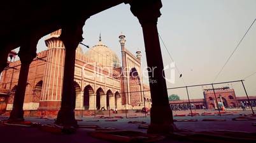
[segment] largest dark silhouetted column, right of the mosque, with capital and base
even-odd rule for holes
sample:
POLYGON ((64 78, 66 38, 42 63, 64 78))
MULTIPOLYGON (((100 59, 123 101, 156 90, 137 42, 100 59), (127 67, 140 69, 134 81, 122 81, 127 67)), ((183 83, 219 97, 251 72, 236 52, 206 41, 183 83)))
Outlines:
POLYGON ((149 133, 173 132, 173 113, 169 107, 167 97, 166 80, 164 78, 164 65, 160 51, 159 35, 157 31, 157 19, 160 17, 160 0, 155 1, 132 1, 131 11, 136 16, 143 29, 148 63, 148 76, 152 108, 150 110, 149 133))

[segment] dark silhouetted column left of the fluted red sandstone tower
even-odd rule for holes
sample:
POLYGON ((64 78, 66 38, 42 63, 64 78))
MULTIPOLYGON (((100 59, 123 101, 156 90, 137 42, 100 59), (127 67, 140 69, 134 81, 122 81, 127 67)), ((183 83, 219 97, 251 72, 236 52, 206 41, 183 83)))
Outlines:
POLYGON ((36 45, 38 39, 27 41, 20 46, 18 56, 20 57, 20 74, 18 75, 18 85, 13 100, 13 109, 11 110, 9 122, 24 121, 24 97, 27 87, 27 77, 29 73, 29 65, 36 58, 36 45))

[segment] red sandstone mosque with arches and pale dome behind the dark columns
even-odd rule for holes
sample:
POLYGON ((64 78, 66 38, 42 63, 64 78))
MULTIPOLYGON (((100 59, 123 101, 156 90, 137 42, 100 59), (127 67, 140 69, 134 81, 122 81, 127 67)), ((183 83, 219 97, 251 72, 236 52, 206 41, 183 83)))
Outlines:
MULTIPOLYGON (((65 47, 57 30, 45 39, 46 51, 37 54, 29 66, 24 99, 24 115, 57 115, 62 95, 65 47)), ((141 75, 141 52, 132 54, 125 47, 125 35, 119 36, 122 60, 110 47, 99 42, 85 53, 76 49, 76 115, 105 109, 142 109, 151 106, 148 85, 141 75)), ((15 58, 15 54, 10 56, 15 58)), ((0 81, 0 111, 10 113, 18 84, 20 61, 9 61, 0 81)))

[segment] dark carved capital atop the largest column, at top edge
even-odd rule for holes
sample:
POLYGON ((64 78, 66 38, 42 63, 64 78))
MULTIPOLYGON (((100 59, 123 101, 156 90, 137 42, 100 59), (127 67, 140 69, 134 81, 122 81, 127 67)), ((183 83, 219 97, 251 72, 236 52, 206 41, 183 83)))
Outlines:
POLYGON ((160 0, 140 0, 131 1, 131 11, 136 16, 143 26, 146 23, 157 24, 157 19, 160 17, 160 8, 162 8, 162 2, 160 0))

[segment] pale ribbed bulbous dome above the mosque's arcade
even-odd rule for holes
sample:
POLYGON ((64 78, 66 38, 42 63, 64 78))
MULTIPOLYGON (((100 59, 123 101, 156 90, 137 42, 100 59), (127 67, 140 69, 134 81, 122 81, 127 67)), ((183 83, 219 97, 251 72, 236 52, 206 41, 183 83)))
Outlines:
POLYGON ((120 67, 120 60, 117 54, 108 46, 105 46, 101 40, 99 40, 96 46, 90 47, 85 56, 106 68, 120 67))

